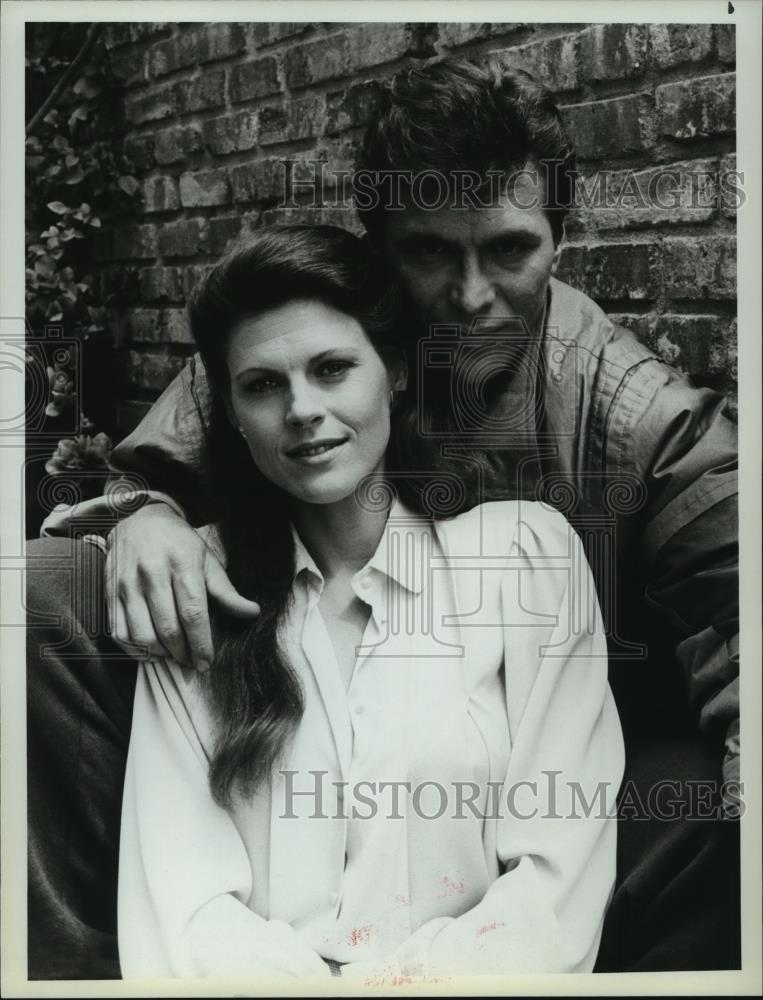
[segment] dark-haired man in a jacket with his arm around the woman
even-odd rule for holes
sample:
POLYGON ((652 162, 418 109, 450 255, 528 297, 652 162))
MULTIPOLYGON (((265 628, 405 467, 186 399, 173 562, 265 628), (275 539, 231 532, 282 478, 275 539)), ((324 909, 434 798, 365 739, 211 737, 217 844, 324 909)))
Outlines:
MULTIPOLYGON (((729 782, 738 776, 736 452, 723 400, 552 277, 574 152, 551 96, 526 74, 447 62, 401 74, 359 167, 359 214, 419 326, 410 377, 439 415, 419 428, 435 465, 457 477, 467 505, 517 496, 560 506, 597 577, 629 759, 598 968, 736 967, 736 829, 708 818, 721 764, 729 782), (696 787, 709 790, 700 816, 696 787)), ((110 533, 106 566, 114 634, 200 669, 213 657, 208 595, 257 612, 188 523, 214 517, 204 392, 192 362, 116 449, 118 469, 163 493, 110 533)), ((100 510, 54 515, 48 529, 78 516, 92 528, 100 510)), ((30 589, 30 609, 45 609, 45 591, 30 589)), ((60 616, 61 598, 53 605, 60 616)), ((74 629, 80 668, 56 649, 42 655, 44 636, 32 637, 32 976, 118 975, 110 914, 135 667, 102 630, 89 633, 74 629), (64 843, 45 778, 56 755, 64 843), (94 884, 106 887, 97 912, 94 884)))

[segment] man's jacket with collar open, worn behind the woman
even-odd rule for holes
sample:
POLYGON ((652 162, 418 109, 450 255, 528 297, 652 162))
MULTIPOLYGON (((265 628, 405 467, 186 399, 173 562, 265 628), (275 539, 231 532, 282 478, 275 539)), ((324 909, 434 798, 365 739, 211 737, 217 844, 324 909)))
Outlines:
MULTIPOLYGON (((485 447, 498 472, 474 502, 531 495, 569 517, 597 581, 626 736, 698 723, 719 747, 725 741, 724 778, 736 782, 737 449, 724 398, 555 279, 529 361, 532 421, 503 437, 494 425, 485 447)), ((169 494, 197 525, 210 520, 208 404, 195 358, 112 456, 115 471, 169 494)), ((94 524, 103 503, 56 511, 43 533, 94 524)))

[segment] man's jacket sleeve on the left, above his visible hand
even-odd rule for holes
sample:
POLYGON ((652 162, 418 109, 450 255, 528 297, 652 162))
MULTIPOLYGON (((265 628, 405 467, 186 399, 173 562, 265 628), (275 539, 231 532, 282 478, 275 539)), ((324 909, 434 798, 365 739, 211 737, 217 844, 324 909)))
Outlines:
POLYGON ((43 522, 43 537, 75 528, 103 533, 145 503, 168 503, 194 526, 214 520, 204 469, 209 389, 194 356, 135 430, 111 453, 106 493, 60 504, 43 522))

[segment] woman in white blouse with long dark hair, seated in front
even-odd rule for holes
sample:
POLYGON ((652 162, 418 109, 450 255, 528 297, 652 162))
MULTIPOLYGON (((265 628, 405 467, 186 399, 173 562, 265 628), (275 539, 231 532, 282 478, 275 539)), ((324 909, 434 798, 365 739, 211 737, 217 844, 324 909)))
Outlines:
POLYGON ((590 574, 539 504, 427 510, 378 273, 342 230, 275 228, 191 302, 202 530, 262 614, 217 621, 203 676, 141 671, 126 976, 593 968, 623 750, 590 574))

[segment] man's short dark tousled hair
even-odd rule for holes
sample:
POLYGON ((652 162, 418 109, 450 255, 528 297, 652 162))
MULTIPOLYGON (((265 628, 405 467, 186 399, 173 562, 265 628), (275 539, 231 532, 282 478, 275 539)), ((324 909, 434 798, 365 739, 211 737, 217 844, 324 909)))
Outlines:
MULTIPOLYGON (((445 60, 396 74, 379 96, 356 171, 358 216, 379 238, 396 190, 424 173, 510 178, 530 161, 545 181, 544 205, 559 241, 575 188, 575 151, 553 94, 529 73, 496 59, 445 60), (399 176, 402 173, 404 179, 399 176), (387 180, 385 181, 385 176, 387 180)), ((404 195, 405 196, 405 195, 404 195)))

